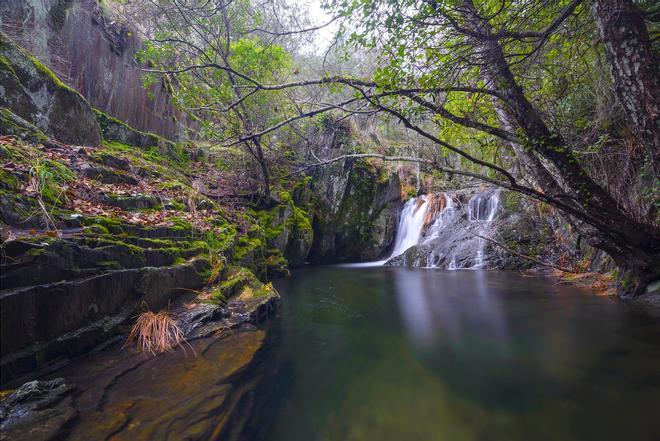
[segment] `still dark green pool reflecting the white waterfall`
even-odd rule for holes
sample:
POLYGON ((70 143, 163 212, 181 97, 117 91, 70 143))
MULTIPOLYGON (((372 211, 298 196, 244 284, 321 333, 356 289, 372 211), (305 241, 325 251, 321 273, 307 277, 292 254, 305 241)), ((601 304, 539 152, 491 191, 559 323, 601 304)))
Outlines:
POLYGON ((224 438, 660 439, 648 311, 501 272, 321 267, 278 289, 224 438))

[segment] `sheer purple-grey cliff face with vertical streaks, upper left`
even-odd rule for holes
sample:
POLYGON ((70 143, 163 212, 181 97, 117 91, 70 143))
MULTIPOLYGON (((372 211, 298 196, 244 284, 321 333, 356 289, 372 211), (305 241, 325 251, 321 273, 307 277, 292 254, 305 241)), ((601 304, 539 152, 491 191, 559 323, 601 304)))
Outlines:
POLYGON ((134 61, 140 41, 96 0, 3 0, 0 27, 89 103, 131 126, 170 139, 182 116, 162 85, 142 87, 134 61))

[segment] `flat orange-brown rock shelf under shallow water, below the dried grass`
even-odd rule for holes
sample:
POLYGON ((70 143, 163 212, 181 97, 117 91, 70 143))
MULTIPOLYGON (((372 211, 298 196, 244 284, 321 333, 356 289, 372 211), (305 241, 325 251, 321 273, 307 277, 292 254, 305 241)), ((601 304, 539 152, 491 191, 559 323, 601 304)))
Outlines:
POLYGON ((1 439, 212 439, 247 390, 231 378, 264 336, 248 326, 156 357, 119 347, 87 355, 3 400, 1 439))

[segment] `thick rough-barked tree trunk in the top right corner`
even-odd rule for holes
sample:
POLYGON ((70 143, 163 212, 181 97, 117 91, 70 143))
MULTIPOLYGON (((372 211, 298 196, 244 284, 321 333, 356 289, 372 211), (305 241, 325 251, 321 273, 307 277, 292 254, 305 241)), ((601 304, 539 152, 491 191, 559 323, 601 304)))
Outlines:
POLYGON ((617 97, 652 170, 657 173, 660 72, 644 17, 631 0, 594 0, 593 11, 617 97))

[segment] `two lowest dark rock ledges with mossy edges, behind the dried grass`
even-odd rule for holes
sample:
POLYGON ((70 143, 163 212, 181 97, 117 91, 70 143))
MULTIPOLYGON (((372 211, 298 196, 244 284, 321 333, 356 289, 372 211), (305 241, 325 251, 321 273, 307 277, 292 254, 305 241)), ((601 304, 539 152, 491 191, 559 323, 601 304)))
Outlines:
POLYGON ((204 286, 208 248, 179 235, 136 227, 121 239, 71 234, 4 243, 2 382, 92 349, 140 305, 157 310, 204 286))

